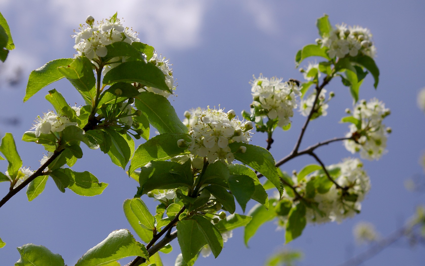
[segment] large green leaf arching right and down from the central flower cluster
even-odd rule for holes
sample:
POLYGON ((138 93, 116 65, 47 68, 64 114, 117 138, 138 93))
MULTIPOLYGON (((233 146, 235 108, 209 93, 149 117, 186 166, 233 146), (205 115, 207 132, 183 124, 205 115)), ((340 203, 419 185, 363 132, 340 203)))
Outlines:
POLYGON ((275 166, 275 159, 269 151, 260 146, 234 142, 229 144, 230 149, 235 154, 235 159, 263 174, 278 189, 280 196, 283 188, 275 166), (246 147, 246 152, 237 152, 240 146, 246 147))

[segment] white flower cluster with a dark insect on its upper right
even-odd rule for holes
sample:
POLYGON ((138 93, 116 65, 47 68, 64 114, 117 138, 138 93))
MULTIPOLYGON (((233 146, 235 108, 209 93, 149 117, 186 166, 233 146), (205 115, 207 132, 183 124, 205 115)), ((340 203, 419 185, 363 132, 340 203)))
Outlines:
POLYGON ((255 116, 255 123, 261 119, 278 119, 278 126, 287 126, 294 115, 294 108, 297 107, 295 96, 300 95, 300 90, 295 82, 282 82, 282 79, 272 77, 255 78, 250 82, 252 85, 251 113, 255 116))

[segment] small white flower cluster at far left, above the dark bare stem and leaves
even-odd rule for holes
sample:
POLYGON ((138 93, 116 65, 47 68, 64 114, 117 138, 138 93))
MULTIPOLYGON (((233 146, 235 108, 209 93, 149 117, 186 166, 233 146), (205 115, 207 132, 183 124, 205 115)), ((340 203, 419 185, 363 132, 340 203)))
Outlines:
MULTIPOLYGON (((79 107, 71 107, 79 114, 79 107), (77 112, 78 111, 78 112, 77 112)), ((65 115, 56 115, 53 111, 43 113, 43 117, 37 116, 35 124, 31 129, 35 129, 35 136, 40 134, 50 134, 51 132, 61 132, 67 126, 77 126, 76 122, 71 122, 65 115)))

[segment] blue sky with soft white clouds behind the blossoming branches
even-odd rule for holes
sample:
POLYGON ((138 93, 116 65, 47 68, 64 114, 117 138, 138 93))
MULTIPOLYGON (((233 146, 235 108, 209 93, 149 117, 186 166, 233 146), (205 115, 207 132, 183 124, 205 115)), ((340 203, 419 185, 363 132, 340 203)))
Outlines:
MULTIPOLYGON (((1 0, 0 11, 8 20, 16 49, 1 66, 0 92, 3 97, 0 117, 18 117, 19 126, 0 124, 0 132, 12 132, 24 165, 39 166, 43 149, 34 143, 19 141, 33 120, 52 109, 44 100, 48 89, 56 88, 69 103, 82 99, 66 81, 43 89, 28 102, 22 103, 26 79, 31 70, 57 58, 72 57, 74 40, 70 35, 87 15, 96 20, 118 11, 125 26, 139 32, 139 38, 154 46, 173 63, 177 79, 177 97, 169 100, 177 114, 193 107, 218 106, 237 113, 249 109, 252 101, 249 80, 278 76, 284 80, 302 79, 295 69, 295 53, 318 37, 315 22, 324 13, 331 24, 347 23, 371 30, 377 47, 376 62, 380 68, 380 84, 366 77, 360 89, 361 99, 377 97, 391 109, 385 125, 393 133, 388 138, 388 154, 379 161, 365 161, 372 189, 363 201, 362 212, 341 224, 309 225, 303 235, 283 247, 284 233, 276 231, 274 223, 263 226, 243 244, 243 230, 235 230, 217 258, 200 258, 198 265, 262 265, 266 257, 278 248, 300 249, 305 253, 300 265, 337 265, 362 250, 354 244, 352 228, 359 221, 374 223, 386 236, 401 226, 423 204, 423 193, 405 190, 404 180, 423 171, 418 164, 425 150, 425 116, 416 106, 416 95, 425 86, 425 3, 423 1, 12 1, 1 0), (23 69, 23 82, 8 87, 4 77, 16 67, 23 69)), ((303 64, 307 64, 304 62, 303 64)), ((302 64, 302 65, 303 65, 302 64)), ((329 103, 328 115, 314 120, 306 132, 301 147, 320 140, 340 137, 348 132, 338 121, 351 107, 348 89, 340 80, 327 87, 336 96, 329 103)), ((295 114, 292 129, 278 130, 271 152, 276 160, 294 146, 304 117, 295 114)), ((152 135, 152 134, 151 134, 152 135)), ((265 146, 266 136, 256 133, 253 144, 265 146)), ((137 143, 140 144, 140 143, 137 143)), ((113 165, 100 151, 84 149, 84 157, 75 171, 90 170, 102 182, 109 183, 102 195, 81 197, 67 191, 60 193, 54 182, 48 181, 45 191, 32 202, 20 192, 0 209, 0 237, 7 244, 0 249, 2 265, 13 265, 19 258, 17 246, 26 243, 44 245, 74 265, 88 249, 116 229, 129 228, 122 212, 122 203, 136 192, 136 183, 113 165), (98 167, 93 167, 98 166, 98 167)), ((341 143, 322 147, 318 154, 329 165, 352 156, 341 143)), ((283 166, 292 172, 313 163, 300 157, 283 166)), ((1 171, 6 164, 0 163, 1 171)), ((0 184, 0 194, 8 185, 0 184)), ((147 203, 150 199, 145 200, 147 203)), ((154 203, 148 203, 154 208, 154 203)), ((252 206, 251 203, 250 206, 252 206)), ((174 265, 175 251, 164 255, 164 265, 174 265)), ((425 250, 409 248, 400 242, 363 265, 423 265, 425 250)))

